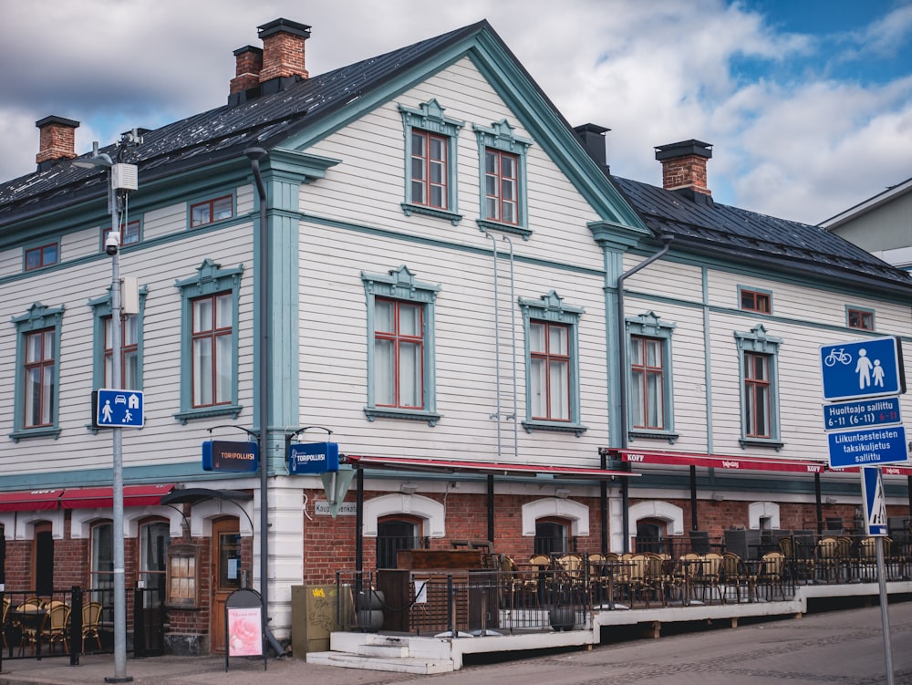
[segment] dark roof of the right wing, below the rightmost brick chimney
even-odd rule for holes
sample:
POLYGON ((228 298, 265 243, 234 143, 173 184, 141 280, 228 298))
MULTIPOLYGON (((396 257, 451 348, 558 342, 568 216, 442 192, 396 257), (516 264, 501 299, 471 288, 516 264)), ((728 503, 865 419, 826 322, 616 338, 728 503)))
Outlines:
POLYGON ((819 226, 719 204, 699 193, 609 178, 650 230, 674 236, 676 249, 844 284, 905 287, 912 296, 912 277, 906 271, 819 226))

